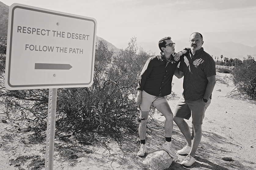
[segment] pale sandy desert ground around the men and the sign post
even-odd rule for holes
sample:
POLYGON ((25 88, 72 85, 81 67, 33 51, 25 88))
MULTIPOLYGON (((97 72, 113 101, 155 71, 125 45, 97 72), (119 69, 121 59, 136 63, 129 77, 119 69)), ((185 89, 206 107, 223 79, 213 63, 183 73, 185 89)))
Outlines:
MULTIPOLYGON (((226 97, 234 86, 228 77, 218 73, 228 84, 217 82, 213 98, 203 121, 203 137, 196 152, 196 162, 190 167, 180 165, 186 155, 179 155, 168 170, 252 170, 256 169, 256 105, 255 103, 226 97), (216 91, 221 89, 221 92, 216 91), (222 156, 232 157, 224 161, 222 156)), ((177 94, 169 101, 173 110, 182 92, 182 79, 174 77, 173 91, 177 94)), ((5 120, 0 114, 0 119, 5 120)), ((161 150, 164 142, 164 117, 155 114, 156 122, 148 123, 144 157, 138 157, 137 134, 127 135, 124 140, 101 136, 98 141, 79 143, 71 135, 56 137, 54 170, 124 170, 152 169, 143 165, 150 153, 161 150)), ((32 132, 17 122, 0 120, 0 170, 45 169, 44 162, 35 163, 35 158, 45 157, 46 136, 35 137, 32 132), (20 130, 18 130, 20 128, 20 130), (22 161, 24 156, 26 161, 22 161), (14 160, 14 161, 12 161, 14 160), (16 161, 15 161, 16 160, 16 161), (33 163, 34 162, 34 163, 33 163), (37 168, 37 166, 39 168, 37 168)), ((191 127, 191 119, 187 121, 191 127)), ((174 123, 173 142, 176 150, 185 145, 185 139, 174 123)))

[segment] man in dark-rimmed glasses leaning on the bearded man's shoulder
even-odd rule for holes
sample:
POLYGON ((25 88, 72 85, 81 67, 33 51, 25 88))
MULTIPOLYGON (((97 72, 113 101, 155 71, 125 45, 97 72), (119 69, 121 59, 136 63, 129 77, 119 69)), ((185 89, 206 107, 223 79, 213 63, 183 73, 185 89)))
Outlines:
POLYGON ((138 156, 145 154, 145 139, 146 139, 146 123, 148 120, 149 108, 151 104, 165 116, 165 143, 162 148, 168 154, 177 159, 175 154, 171 136, 173 130, 173 113, 166 100, 166 95, 171 94, 173 75, 181 78, 177 65, 179 62, 174 61, 175 43, 171 37, 164 37, 158 42, 160 55, 150 57, 146 61, 144 68, 141 71, 138 80, 136 103, 140 110, 139 120, 139 136, 141 140, 141 148, 138 151, 138 156))

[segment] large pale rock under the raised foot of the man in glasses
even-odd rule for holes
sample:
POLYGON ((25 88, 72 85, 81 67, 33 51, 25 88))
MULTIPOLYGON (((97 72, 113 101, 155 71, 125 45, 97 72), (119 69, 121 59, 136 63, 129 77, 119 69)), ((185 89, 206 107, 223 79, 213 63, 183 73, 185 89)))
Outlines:
POLYGON ((166 151, 156 151, 148 154, 148 156, 144 159, 143 164, 149 165, 155 170, 164 170, 171 166, 172 161, 173 158, 170 157, 166 151))

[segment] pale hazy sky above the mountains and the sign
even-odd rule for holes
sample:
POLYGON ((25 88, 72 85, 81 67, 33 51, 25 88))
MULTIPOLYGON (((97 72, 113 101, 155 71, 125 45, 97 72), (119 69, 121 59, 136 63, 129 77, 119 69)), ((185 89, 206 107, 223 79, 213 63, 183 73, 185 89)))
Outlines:
POLYGON ((188 39, 200 32, 204 41, 256 46, 256 0, 0 0, 36 6, 97 20, 97 36, 118 48, 137 42, 188 39))

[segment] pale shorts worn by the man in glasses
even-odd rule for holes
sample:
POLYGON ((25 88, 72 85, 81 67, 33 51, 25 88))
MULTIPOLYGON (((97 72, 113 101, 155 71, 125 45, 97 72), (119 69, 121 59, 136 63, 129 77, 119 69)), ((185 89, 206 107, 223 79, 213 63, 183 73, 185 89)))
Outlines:
POLYGON ((141 111, 146 112, 149 111, 149 108, 151 104, 153 106, 158 106, 159 104, 162 103, 168 103, 165 96, 155 96, 155 95, 150 95, 144 90, 141 93, 141 111))

